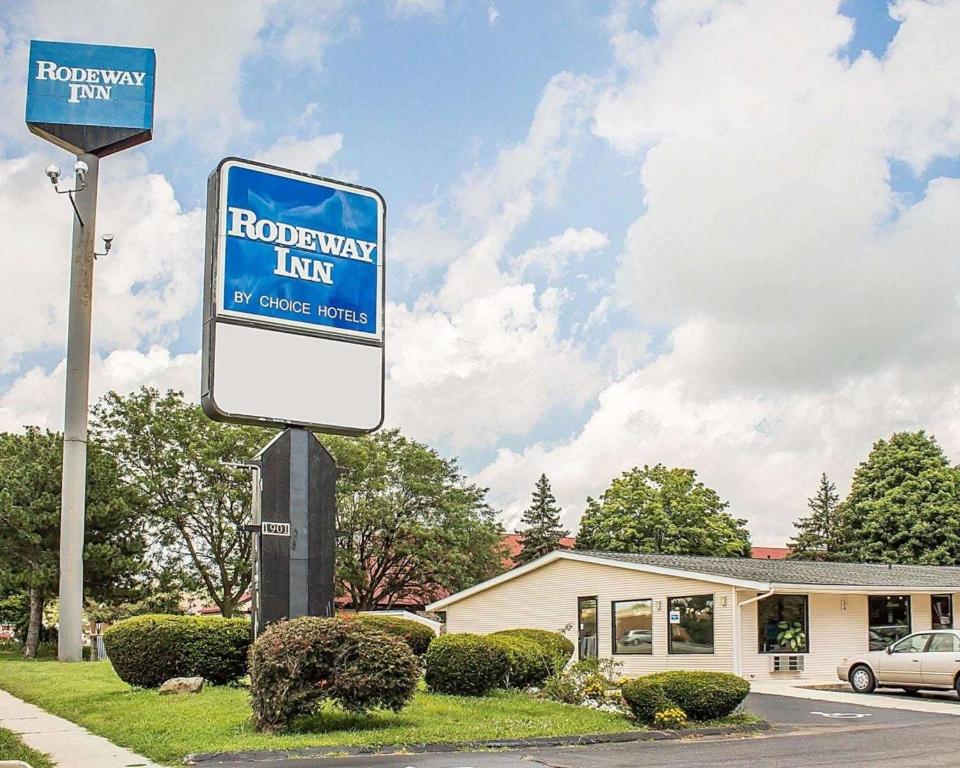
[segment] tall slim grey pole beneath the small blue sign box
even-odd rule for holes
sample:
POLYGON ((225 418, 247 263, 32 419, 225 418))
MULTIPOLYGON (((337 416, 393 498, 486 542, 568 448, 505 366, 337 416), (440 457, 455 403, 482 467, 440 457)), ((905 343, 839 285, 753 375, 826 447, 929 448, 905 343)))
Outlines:
MULTIPOLYGON (((90 404, 90 318, 100 158, 87 164, 85 186, 76 192, 70 258, 63 477, 60 492, 60 627, 57 658, 80 661, 83 646, 83 535, 87 486, 87 412, 90 404)), ((77 177, 77 187, 80 186, 77 177)))

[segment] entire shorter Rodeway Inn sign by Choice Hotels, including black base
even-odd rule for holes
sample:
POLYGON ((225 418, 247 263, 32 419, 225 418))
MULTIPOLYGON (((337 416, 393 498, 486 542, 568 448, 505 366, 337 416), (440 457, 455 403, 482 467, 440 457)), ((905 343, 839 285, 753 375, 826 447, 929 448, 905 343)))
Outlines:
POLYGON ((259 632, 334 612, 337 468, 312 432, 383 423, 386 211, 375 190, 240 158, 207 190, 201 404, 284 430, 255 458, 259 632))

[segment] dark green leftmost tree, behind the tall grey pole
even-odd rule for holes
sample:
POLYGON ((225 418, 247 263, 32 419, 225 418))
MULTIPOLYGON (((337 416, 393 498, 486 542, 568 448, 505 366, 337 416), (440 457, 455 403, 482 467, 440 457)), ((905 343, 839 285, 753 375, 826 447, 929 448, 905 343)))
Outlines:
MULTIPOLYGON (((59 584, 63 438, 28 427, 0 434, 0 587, 27 595, 24 655, 36 655, 43 609, 59 584)), ((100 600, 136 596, 143 586, 146 540, 141 510, 113 457, 87 445, 84 591, 100 600)))

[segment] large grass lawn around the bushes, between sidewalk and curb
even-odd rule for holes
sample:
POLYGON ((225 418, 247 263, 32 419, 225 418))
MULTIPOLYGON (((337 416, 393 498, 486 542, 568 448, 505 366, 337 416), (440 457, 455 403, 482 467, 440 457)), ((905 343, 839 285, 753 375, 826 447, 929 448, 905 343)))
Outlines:
POLYGON ((161 763, 190 752, 605 733, 635 728, 626 718, 540 701, 520 692, 484 698, 420 691, 402 712, 357 717, 324 711, 297 733, 271 736, 250 725, 249 694, 208 687, 195 696, 134 689, 108 662, 59 664, 0 658, 0 688, 161 763))

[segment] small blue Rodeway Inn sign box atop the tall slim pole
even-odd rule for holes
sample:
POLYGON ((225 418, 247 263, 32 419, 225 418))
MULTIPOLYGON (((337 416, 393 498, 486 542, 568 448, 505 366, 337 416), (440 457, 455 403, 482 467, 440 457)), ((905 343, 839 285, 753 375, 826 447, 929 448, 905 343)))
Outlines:
POLYGON ((148 48, 33 40, 27 126, 74 154, 149 141, 156 56, 148 48))

